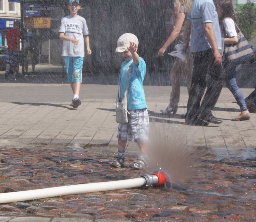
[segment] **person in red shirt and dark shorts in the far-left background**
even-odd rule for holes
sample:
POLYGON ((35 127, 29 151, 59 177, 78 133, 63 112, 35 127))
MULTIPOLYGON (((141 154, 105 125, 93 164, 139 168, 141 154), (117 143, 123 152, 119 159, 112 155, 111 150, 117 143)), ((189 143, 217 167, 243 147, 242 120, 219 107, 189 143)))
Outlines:
POLYGON ((20 22, 13 22, 13 29, 10 29, 6 34, 7 39, 7 53, 6 53, 6 71, 5 79, 9 78, 10 69, 13 68, 15 77, 20 77, 19 66, 20 66, 20 22), (11 67, 12 66, 12 67, 11 67))

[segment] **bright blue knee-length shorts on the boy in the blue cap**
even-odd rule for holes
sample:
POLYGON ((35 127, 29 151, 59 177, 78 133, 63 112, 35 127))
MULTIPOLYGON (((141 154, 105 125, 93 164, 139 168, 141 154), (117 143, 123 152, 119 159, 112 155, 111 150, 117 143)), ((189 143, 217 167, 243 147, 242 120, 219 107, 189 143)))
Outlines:
POLYGON ((68 83, 82 82, 84 57, 63 56, 66 65, 68 83))

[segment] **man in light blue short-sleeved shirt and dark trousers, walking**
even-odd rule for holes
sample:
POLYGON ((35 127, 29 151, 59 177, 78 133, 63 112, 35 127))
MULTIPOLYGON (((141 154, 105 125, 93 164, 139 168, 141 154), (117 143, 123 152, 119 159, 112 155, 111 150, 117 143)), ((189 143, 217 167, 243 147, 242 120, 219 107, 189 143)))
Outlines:
POLYGON ((186 124, 206 126, 209 122, 221 123, 222 121, 214 117, 211 112, 218 100, 222 86, 220 51, 223 49, 218 14, 212 0, 193 1, 184 27, 184 51, 187 50, 190 33, 193 73, 186 124), (207 73, 212 81, 200 106, 206 88, 207 73))

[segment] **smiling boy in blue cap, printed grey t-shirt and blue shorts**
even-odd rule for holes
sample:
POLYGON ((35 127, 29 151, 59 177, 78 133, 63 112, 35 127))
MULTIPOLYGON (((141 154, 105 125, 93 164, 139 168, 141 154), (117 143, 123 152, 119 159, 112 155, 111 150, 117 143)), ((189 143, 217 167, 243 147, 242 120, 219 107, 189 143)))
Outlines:
POLYGON ((82 82, 82 68, 84 62, 84 42, 88 55, 91 55, 88 28, 83 17, 77 15, 81 8, 79 0, 69 0, 69 16, 61 19, 59 36, 63 40, 62 56, 66 65, 68 83, 70 83, 74 97, 71 106, 77 108, 81 104, 79 92, 82 82))

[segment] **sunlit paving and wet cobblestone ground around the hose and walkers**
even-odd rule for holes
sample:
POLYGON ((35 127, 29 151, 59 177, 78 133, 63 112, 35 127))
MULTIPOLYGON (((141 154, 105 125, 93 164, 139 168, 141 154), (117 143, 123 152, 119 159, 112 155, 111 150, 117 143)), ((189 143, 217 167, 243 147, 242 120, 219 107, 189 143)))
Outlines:
MULTIPOLYGON (((74 109, 68 84, 0 83, 0 192, 137 177, 112 169, 117 151, 116 85, 82 85, 74 109)), ((253 89, 242 88, 244 96, 253 89)), ((0 221, 255 221, 256 113, 231 121, 239 106, 223 88, 213 111, 221 124, 185 126, 188 93, 181 87, 177 114, 163 115, 171 87, 145 86, 150 125, 184 127, 202 151, 200 171, 186 187, 127 189, 0 204, 0 221), (23 218, 20 218, 23 217, 23 218), (28 218, 30 217, 30 218, 28 218)), ((167 157, 168 158, 168 157, 167 157)))

